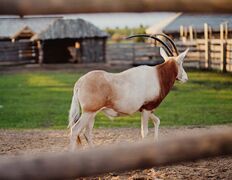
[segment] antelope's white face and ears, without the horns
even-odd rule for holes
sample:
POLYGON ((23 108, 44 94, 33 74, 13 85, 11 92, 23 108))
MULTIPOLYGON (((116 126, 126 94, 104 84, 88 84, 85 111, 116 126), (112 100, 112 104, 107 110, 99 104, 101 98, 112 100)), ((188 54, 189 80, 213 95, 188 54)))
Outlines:
POLYGON ((160 55, 164 58, 165 61, 174 59, 176 61, 178 67, 178 74, 176 79, 182 83, 188 81, 188 75, 184 70, 183 63, 186 54, 188 53, 189 49, 186 49, 184 52, 180 53, 178 56, 168 56, 167 53, 164 51, 163 48, 160 48, 160 55))

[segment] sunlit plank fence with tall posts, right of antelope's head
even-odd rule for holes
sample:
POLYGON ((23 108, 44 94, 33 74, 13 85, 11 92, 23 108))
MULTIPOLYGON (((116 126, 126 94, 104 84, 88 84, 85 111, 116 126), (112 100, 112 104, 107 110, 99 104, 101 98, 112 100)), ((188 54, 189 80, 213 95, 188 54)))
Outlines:
POLYGON ((209 37, 210 27, 205 24, 204 38, 177 42, 180 51, 190 48, 185 65, 191 68, 232 72, 232 40, 228 39, 228 30, 224 28, 225 24, 221 24, 220 38, 213 39, 209 37))

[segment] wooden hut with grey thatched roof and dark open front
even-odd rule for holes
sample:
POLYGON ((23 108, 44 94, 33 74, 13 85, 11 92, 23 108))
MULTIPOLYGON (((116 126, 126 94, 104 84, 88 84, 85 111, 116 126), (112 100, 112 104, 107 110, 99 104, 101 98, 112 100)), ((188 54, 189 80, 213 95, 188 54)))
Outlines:
POLYGON ((55 62, 104 62, 107 34, 82 19, 57 19, 32 37, 40 41, 41 60, 55 62))

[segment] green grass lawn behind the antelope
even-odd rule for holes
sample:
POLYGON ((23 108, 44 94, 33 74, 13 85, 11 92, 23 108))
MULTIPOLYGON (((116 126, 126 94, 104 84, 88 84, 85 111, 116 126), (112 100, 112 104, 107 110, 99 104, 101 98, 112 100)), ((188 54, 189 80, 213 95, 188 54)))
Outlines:
MULTIPOLYGON (((30 72, 0 75, 0 128, 66 128, 72 87, 81 73, 30 72)), ((189 72, 156 110, 161 126, 232 123, 232 75, 189 72)), ((97 82, 96 82, 97 83, 97 82)), ((95 127, 139 127, 140 114, 95 127)))

